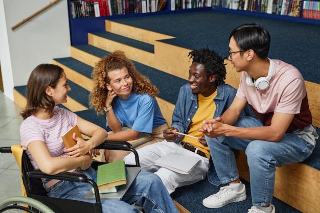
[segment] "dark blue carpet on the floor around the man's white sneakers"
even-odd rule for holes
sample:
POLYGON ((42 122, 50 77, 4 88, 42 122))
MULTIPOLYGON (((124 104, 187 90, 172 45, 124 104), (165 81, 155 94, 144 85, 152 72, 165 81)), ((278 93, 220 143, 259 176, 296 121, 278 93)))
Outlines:
MULTIPOLYGON (((252 197, 250 193, 249 182, 241 179, 245 184, 247 199, 237 203, 230 203, 222 208, 210 209, 202 205, 202 200, 219 191, 220 186, 215 186, 209 183, 207 179, 192 185, 182 186, 176 189, 171 197, 179 204, 187 208, 192 213, 234 213, 234 212, 247 212, 252 206, 252 197)), ((222 185, 223 186, 223 185, 222 185)), ((281 213, 299 213, 301 211, 296 210, 292 206, 282 202, 281 200, 273 197, 272 204, 276 207, 276 212, 281 213)))

